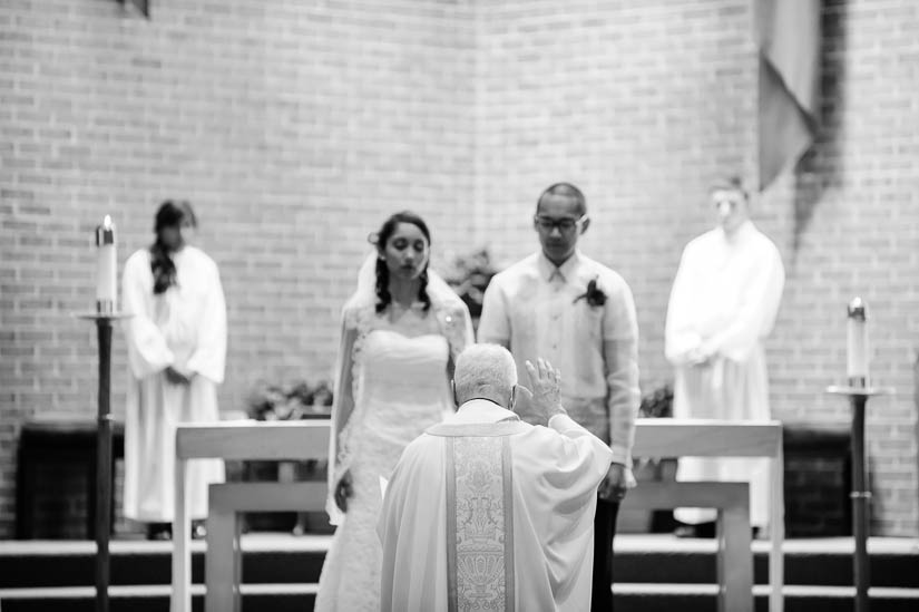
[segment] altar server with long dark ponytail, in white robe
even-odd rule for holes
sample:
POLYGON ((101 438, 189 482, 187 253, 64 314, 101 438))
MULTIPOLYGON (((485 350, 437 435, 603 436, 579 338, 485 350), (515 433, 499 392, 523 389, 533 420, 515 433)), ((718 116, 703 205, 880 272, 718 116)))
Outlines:
MULTIPOLYGON (((155 540, 169 536, 173 521, 176 426, 219 420, 226 305, 217 265, 186 244, 196 225, 188 203, 163 203, 156 241, 135 252, 124 271, 124 309, 131 314, 124 323, 130 370, 125 516, 148 523, 148 537, 155 540)), ((207 486, 223 479, 219 459, 188 463, 193 518, 207 516, 207 486)))

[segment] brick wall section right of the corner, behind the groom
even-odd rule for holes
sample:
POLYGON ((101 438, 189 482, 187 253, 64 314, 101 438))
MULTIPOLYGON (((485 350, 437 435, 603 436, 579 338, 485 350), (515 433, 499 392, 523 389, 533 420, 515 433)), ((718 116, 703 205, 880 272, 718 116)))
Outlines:
MULTIPOLYGON (((501 2, 480 6, 478 222, 500 260, 536 242, 526 220, 548 183, 569 179, 594 217, 584 249, 632 285, 643 386, 663 358, 669 283, 683 245, 712 223, 720 172, 755 174, 755 48, 750 2, 501 2)), ((845 424, 827 396, 845 368, 845 304, 870 308, 873 531, 919 531, 919 9, 824 2, 823 124, 813 153, 754 204, 788 284, 768 344, 778 418, 845 424)))

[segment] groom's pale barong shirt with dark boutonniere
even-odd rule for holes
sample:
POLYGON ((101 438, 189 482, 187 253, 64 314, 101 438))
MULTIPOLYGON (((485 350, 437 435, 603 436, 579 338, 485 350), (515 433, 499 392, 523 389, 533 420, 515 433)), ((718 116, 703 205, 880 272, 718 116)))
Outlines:
POLYGON ((526 361, 539 357, 561 370, 561 405, 609 443, 614 462, 632 466, 638 321, 632 290, 617 272, 580 251, 559 266, 532 253, 491 279, 478 340, 510 349, 520 380, 527 380, 526 361), (590 281, 604 303, 586 298, 590 281))

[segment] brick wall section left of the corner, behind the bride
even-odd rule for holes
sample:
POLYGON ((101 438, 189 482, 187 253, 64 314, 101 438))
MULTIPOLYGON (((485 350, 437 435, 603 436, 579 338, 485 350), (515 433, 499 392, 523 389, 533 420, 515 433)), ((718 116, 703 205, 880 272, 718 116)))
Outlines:
MULTIPOLYGON (((115 0, 0 7, 0 536, 22 420, 95 411, 96 334, 70 313, 94 303, 105 214, 120 271, 163 198, 195 204, 228 304, 224 409, 260 378, 330 375, 341 304, 388 214, 418 210, 439 256, 468 232, 468 6, 151 7, 150 21, 115 0)), ((124 414, 120 332, 114 352, 124 414)))

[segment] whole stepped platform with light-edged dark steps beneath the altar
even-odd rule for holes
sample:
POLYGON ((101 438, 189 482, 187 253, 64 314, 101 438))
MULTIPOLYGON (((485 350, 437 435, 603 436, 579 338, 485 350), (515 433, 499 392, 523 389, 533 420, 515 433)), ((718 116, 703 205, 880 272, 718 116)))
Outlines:
MULTIPOLYGON (((312 610, 331 536, 251 533, 243 536, 244 610, 312 610)), ((753 542, 757 611, 768 608, 769 543, 753 542)), ((203 610, 203 542, 193 542, 193 608, 203 610)), ((0 542, 0 608, 3 612, 94 610, 95 543, 0 542)), ((110 610, 167 612, 172 544, 120 540, 111 543, 110 610)), ((872 612, 919 610, 919 540, 874 537, 872 612)), ((853 609, 851 538, 790 540, 784 545, 785 610, 853 609)), ((671 535, 616 538, 616 612, 703 611, 715 608, 715 543, 671 535)))

